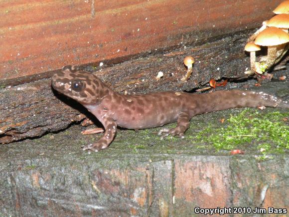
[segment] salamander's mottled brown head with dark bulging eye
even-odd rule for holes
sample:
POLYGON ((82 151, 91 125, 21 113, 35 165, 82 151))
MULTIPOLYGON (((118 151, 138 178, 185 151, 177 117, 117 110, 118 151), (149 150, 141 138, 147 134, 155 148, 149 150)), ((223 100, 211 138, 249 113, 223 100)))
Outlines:
POLYGON ((81 104, 98 104, 109 94, 109 88, 90 72, 65 66, 51 78, 52 87, 81 104))

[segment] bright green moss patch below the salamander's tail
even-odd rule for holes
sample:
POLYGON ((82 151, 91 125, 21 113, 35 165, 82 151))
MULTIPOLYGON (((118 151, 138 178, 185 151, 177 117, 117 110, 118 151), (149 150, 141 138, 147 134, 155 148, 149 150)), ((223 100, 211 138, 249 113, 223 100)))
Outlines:
POLYGON ((223 127, 209 125, 195 139, 211 144, 217 151, 250 148, 259 150, 263 156, 284 153, 289 149, 289 126, 283 119, 288 116, 289 112, 245 109, 236 116, 231 115, 223 127))

